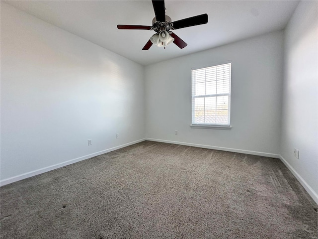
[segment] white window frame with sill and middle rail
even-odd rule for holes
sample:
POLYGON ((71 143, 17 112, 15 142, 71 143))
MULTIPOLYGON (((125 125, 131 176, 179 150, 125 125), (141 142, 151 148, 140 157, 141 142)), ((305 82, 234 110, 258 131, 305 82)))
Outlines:
MULTIPOLYGON (((191 69, 191 128, 209 128, 209 129, 231 129, 231 93, 232 93, 232 61, 227 61, 223 63, 218 63, 214 65, 209 65, 209 66, 204 66, 204 67, 196 67, 191 69), (205 69, 205 68, 210 68, 210 67, 217 67, 217 66, 222 66, 230 64, 230 92, 229 93, 221 93, 221 94, 212 94, 212 95, 200 95, 200 96, 193 96, 193 90, 194 90, 194 81, 193 81, 193 71, 195 70, 200 70, 200 69, 205 69), (229 124, 218 124, 218 123, 193 123, 193 116, 194 116, 194 100, 196 98, 206 98, 206 97, 217 97, 217 96, 229 96, 229 106, 228 106, 228 119, 229 119, 229 124)), ((205 86, 206 89, 206 86, 205 86)))

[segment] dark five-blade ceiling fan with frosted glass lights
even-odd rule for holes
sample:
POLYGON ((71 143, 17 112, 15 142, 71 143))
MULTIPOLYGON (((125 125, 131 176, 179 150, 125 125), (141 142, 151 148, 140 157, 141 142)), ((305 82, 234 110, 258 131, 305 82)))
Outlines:
POLYGON ((137 29, 137 30, 154 30, 156 33, 146 43, 143 50, 148 50, 153 44, 164 47, 170 43, 176 44, 179 48, 187 46, 180 37, 171 30, 176 30, 189 26, 206 24, 208 22, 208 14, 192 16, 178 21, 171 21, 171 18, 165 15, 164 0, 152 0, 155 17, 152 26, 143 25, 117 25, 118 29, 137 29))

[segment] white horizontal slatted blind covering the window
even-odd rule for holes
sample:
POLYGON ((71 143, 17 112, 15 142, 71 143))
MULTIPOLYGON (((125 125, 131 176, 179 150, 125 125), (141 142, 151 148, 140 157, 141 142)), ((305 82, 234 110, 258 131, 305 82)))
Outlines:
POLYGON ((192 124, 230 126, 231 63, 192 70, 192 124))

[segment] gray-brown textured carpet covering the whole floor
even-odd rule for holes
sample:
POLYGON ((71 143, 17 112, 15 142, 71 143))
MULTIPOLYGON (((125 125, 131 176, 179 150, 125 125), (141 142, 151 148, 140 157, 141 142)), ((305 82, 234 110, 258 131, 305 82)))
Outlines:
POLYGON ((317 239, 279 159, 144 141, 1 187, 1 239, 317 239))

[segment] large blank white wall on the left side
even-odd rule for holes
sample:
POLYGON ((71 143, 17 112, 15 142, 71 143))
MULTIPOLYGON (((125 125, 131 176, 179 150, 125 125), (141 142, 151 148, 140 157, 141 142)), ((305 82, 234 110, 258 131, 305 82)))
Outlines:
POLYGON ((144 138, 143 74, 1 1, 2 182, 144 138))

